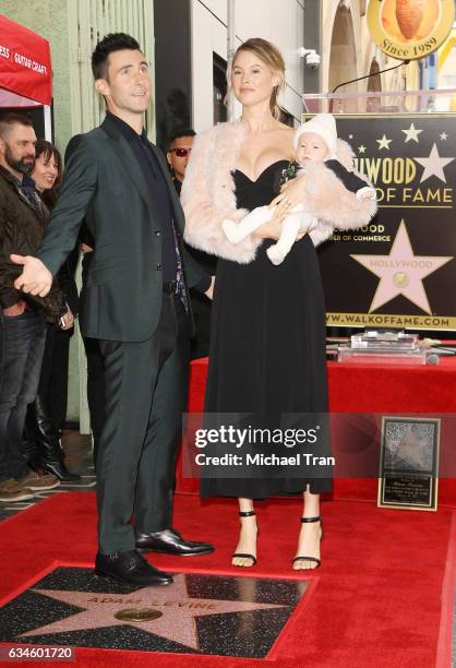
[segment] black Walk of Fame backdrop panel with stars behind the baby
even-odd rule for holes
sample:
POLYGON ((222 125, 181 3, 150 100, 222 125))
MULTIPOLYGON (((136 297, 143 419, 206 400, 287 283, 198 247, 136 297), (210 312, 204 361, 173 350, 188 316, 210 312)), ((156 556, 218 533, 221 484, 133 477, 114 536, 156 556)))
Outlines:
POLYGON ((379 212, 319 247, 326 324, 456 330, 456 115, 336 120, 379 212))

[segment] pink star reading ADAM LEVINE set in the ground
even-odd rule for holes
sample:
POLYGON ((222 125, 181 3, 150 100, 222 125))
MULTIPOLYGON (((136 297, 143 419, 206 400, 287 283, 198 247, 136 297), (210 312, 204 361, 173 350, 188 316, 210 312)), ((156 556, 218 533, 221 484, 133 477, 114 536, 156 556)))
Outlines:
POLYGON ((71 606, 77 606, 83 610, 22 633, 19 637, 128 625, 166 637, 193 649, 199 649, 195 618, 288 607, 275 604, 190 597, 187 592, 184 574, 176 575, 173 584, 166 588, 143 587, 130 594, 67 592, 61 589, 32 589, 32 592, 71 606), (116 613, 131 608, 151 612, 152 616, 155 613, 155 619, 131 621, 116 617, 116 613))

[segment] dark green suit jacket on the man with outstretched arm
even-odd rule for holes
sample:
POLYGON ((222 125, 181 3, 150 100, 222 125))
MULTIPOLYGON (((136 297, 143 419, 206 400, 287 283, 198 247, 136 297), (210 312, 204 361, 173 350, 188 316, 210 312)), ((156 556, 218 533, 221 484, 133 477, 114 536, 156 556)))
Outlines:
MULTIPOLYGON (((183 212, 164 156, 151 147, 168 184, 183 271, 188 286, 193 287, 204 274, 182 247, 183 212)), ((109 117, 99 128, 74 136, 68 146, 61 193, 37 252, 52 275, 73 250, 84 219, 95 249, 81 293, 83 335, 145 341, 155 332, 161 308, 159 212, 153 186, 109 117)))

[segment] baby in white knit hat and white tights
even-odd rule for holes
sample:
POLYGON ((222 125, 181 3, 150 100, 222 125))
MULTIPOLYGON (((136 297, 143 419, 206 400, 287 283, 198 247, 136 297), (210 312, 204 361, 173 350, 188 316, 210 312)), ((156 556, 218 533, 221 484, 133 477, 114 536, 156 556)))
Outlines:
MULTIPOLYGON (((360 201, 375 199, 375 190, 367 181, 352 171, 348 171, 337 158, 337 130, 336 121, 331 114, 319 114, 307 123, 300 126, 295 135, 296 160, 283 170, 279 188, 288 180, 293 179, 305 170, 310 162, 324 163, 343 182, 350 192, 356 193, 360 201)), ((239 243, 264 223, 274 217, 274 208, 259 206, 240 222, 224 220, 221 227, 231 243, 239 243)), ((295 206, 284 219, 280 238, 277 243, 271 246, 266 253, 274 264, 280 264, 291 246, 295 243, 299 230, 305 232, 314 229, 319 220, 308 211, 303 204, 295 206)))

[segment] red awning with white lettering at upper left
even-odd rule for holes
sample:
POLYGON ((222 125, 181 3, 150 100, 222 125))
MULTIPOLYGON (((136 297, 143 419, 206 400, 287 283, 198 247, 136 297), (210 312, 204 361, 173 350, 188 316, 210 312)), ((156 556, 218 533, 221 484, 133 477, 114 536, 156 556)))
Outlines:
POLYGON ((0 14, 0 107, 50 105, 49 41, 0 14))

